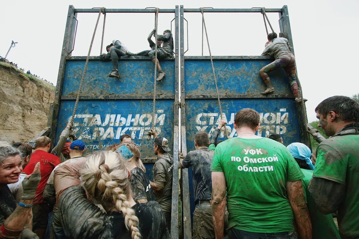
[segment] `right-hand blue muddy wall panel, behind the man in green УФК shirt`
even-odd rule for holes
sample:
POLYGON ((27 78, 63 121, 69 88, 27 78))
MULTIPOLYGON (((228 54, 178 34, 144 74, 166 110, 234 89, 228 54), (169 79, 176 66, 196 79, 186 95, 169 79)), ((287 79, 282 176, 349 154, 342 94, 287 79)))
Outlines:
MULTIPOLYGON (((265 84, 259 70, 270 62, 268 57, 214 59, 222 111, 228 122, 227 129, 231 132, 229 136, 237 136, 233 128, 236 112, 243 108, 252 108, 261 116, 261 126, 256 134, 262 137, 268 137, 272 133, 281 134, 285 145, 300 142, 297 109, 283 69, 269 73, 276 95, 260 95, 260 92, 265 90, 265 84)), ((194 135, 203 130, 211 137, 221 117, 209 59, 187 57, 184 83, 188 152, 195 149, 194 135)), ((222 132, 218 140, 225 139, 227 138, 222 132)), ((188 179, 192 217, 195 205, 191 169, 188 169, 188 179)))

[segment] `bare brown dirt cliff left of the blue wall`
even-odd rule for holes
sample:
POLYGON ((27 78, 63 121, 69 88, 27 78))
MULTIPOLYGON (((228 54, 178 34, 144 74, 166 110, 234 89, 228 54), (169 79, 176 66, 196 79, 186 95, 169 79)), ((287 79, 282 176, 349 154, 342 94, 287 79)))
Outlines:
POLYGON ((46 127, 55 86, 0 62, 0 138, 28 142, 46 127))

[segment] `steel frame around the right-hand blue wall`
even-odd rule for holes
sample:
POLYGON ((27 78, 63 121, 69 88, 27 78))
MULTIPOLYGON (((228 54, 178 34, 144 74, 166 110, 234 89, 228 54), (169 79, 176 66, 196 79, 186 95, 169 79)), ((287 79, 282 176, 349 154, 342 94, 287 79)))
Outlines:
MULTIPOLYGON (((261 8, 251 9, 214 9, 204 8, 204 13, 262 13, 261 8)), ((279 13, 279 26, 280 31, 284 33, 285 37, 289 40, 291 50, 294 54, 292 32, 290 30, 288 7, 285 5, 283 8, 265 9, 266 13, 279 13)), ((187 152, 186 144, 186 99, 217 99, 216 94, 213 95, 186 95, 185 94, 185 60, 196 60, 196 59, 210 59, 209 56, 184 56, 184 16, 183 13, 201 13, 201 9, 185 8, 183 5, 180 6, 180 44, 181 44, 181 152, 187 152)), ((216 60, 238 60, 238 59, 271 59, 269 56, 213 56, 216 60)), ((298 80, 299 82, 299 80, 298 80)), ((220 95, 222 99, 241 99, 241 98, 292 98, 292 94, 273 94, 269 96, 263 96, 260 94, 235 94, 235 95, 220 95)), ((310 138, 307 137, 306 128, 304 123, 307 119, 306 113, 303 113, 300 109, 300 105, 297 104, 297 115, 300 130, 300 138, 302 143, 310 143, 310 138)), ((305 106, 304 106, 305 107, 305 106)), ((189 197, 189 185, 188 185, 188 171, 187 169, 181 169, 181 198, 182 198, 182 223, 183 223, 183 238, 191 239, 191 212, 190 212, 190 197, 189 197)))

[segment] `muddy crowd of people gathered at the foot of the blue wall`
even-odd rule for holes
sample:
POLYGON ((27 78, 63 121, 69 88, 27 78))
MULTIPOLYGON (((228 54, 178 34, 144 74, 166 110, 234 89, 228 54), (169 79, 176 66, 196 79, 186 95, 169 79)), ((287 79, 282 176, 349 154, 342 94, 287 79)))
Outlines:
MULTIPOLYGON (((315 111, 330 136, 308 127, 316 153, 280 134, 258 136, 253 109, 234 116, 236 137, 217 140, 224 119, 210 139, 195 134, 195 149, 178 153, 178 167, 192 168, 193 238, 359 238, 359 104, 333 96, 315 111)), ((170 238, 178 168, 168 140, 149 132, 149 178, 129 134, 84 155, 72 127, 55 147, 46 136, 1 143, 0 238, 170 238)))

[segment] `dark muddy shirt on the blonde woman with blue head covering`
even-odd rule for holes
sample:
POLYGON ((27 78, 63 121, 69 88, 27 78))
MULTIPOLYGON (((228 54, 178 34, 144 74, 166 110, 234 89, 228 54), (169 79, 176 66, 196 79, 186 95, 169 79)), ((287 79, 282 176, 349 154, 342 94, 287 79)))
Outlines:
POLYGON ((139 167, 131 169, 130 182, 135 201, 140 199, 147 199, 148 202, 151 201, 152 189, 150 186, 150 180, 142 169, 139 167))

